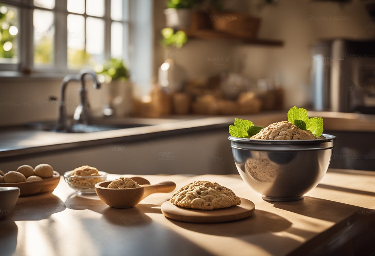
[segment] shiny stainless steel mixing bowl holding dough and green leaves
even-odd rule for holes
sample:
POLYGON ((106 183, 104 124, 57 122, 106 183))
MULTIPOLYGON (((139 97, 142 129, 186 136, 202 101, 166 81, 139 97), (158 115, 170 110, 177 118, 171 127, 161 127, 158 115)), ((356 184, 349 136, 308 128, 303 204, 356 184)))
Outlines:
POLYGON ((302 199, 326 174, 336 137, 318 140, 251 140, 229 136, 242 179, 267 201, 302 199))

